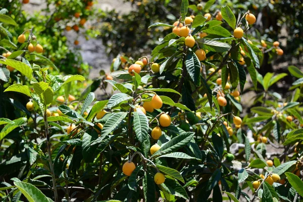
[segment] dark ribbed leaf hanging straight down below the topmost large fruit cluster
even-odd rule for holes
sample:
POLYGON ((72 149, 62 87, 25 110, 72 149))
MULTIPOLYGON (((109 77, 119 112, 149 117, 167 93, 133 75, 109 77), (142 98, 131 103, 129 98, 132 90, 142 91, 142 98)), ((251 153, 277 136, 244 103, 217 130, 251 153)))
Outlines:
POLYGON ((197 56, 191 51, 187 52, 185 66, 189 76, 196 86, 200 85, 200 61, 197 56))

